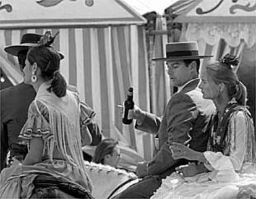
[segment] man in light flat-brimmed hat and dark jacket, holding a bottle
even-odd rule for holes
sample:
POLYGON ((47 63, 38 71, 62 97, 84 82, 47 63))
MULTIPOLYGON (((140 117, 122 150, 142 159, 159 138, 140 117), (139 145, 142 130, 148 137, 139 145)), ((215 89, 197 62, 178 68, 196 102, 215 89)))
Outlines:
MULTIPOLYGON (((199 55, 196 42, 178 42, 166 44, 166 57, 153 59, 166 61, 168 75, 176 94, 166 104, 163 118, 146 113, 135 107, 133 118, 135 128, 158 137, 155 155, 150 161, 137 164, 137 175, 143 179, 130 186, 115 198, 150 198, 161 185, 162 179, 175 171, 177 166, 185 165, 188 160, 174 160, 169 146, 172 142, 189 145, 198 152, 207 147, 207 126, 215 106, 211 100, 203 99, 198 89, 198 70, 200 59, 212 57, 199 55)), ((187 170, 186 176, 198 172, 200 164, 192 163, 194 171, 187 170)))

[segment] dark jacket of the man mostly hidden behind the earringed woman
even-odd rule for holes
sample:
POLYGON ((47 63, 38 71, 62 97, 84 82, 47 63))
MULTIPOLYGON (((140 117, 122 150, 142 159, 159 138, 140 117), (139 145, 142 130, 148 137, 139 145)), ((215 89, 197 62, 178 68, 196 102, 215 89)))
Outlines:
POLYGON ((36 92, 29 84, 20 83, 0 92, 1 97, 1 170, 6 163, 6 155, 27 154, 27 146, 20 145, 20 129, 27 120, 28 107, 36 92))

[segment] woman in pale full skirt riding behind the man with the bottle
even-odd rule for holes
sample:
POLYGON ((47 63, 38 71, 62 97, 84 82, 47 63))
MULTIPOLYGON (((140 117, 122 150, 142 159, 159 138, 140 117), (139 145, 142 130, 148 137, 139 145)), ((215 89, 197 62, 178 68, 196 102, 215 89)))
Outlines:
POLYGON ((246 87, 233 69, 237 64, 237 58, 227 54, 220 62, 210 64, 203 70, 199 88, 203 98, 213 100, 217 108, 208 126, 211 134, 207 151, 197 152, 184 144, 172 143, 169 148, 173 158, 185 158, 191 162, 176 168, 178 174, 164 179, 162 187, 152 198, 256 195, 256 192, 247 192, 251 185, 256 187, 256 140, 254 124, 246 107, 246 87), (245 172, 255 175, 248 179, 242 174, 245 172), (163 187, 169 189, 163 190, 163 187))

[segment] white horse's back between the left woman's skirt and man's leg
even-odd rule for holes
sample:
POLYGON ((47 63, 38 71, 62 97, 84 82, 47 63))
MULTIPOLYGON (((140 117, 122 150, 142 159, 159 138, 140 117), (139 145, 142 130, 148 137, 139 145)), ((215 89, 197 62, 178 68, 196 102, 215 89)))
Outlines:
POLYGON ((92 196, 97 199, 113 198, 117 193, 140 181, 132 172, 113 166, 84 161, 85 170, 92 182, 92 196))

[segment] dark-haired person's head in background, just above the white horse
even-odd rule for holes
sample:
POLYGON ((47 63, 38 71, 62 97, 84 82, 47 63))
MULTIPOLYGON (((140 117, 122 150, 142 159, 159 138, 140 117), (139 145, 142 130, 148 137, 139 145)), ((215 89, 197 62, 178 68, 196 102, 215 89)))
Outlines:
POLYGON ((118 142, 114 139, 104 139, 97 145, 92 161, 116 167, 121 156, 118 142))

